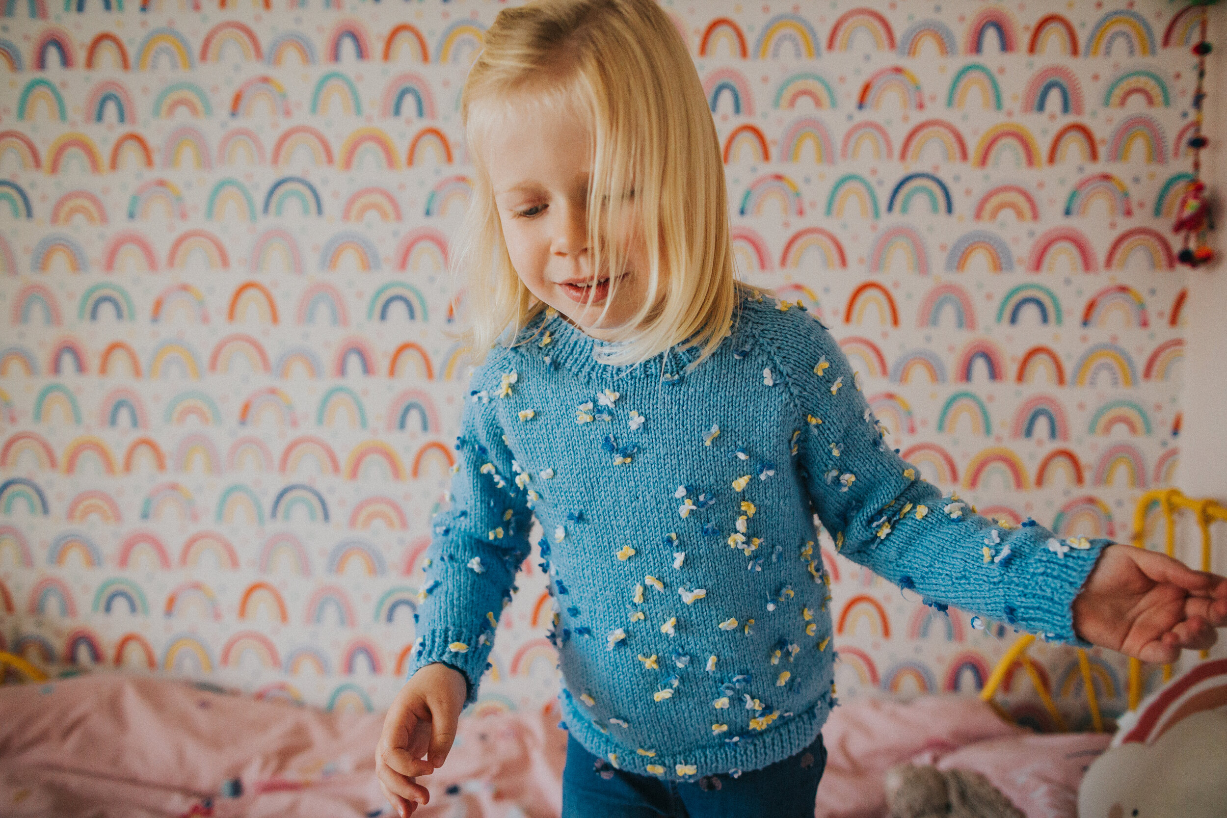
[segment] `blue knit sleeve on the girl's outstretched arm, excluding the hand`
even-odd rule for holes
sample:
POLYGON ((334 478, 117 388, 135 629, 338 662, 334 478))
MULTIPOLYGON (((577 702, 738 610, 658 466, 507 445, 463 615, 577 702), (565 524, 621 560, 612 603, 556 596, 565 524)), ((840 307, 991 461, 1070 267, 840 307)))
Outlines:
POLYGON ((798 408, 798 472, 840 553, 936 607, 1081 641, 1071 603, 1109 541, 1060 540, 1029 520, 999 524, 942 497, 886 444, 847 358, 816 319, 790 308, 764 321, 760 337, 798 408))

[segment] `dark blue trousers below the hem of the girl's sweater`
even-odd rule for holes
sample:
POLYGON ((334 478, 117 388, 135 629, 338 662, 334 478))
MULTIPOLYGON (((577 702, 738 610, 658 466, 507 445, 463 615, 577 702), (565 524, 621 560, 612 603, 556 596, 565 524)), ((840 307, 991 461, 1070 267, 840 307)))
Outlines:
POLYGON ((665 781, 615 770, 568 737, 562 818, 814 818, 826 765, 818 733, 796 755, 737 778, 665 781))

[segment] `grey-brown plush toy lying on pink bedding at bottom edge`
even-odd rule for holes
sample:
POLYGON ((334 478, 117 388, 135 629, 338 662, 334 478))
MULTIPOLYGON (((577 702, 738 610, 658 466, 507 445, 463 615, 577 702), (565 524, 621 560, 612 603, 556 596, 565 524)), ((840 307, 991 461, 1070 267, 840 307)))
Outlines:
POLYGON ((886 771, 891 818, 1026 818, 979 773, 901 764, 886 771))

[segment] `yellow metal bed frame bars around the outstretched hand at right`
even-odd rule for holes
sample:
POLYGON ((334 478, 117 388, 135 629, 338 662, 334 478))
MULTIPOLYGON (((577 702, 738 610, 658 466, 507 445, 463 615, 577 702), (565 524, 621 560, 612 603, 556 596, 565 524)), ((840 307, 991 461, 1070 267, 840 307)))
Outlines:
MULTIPOLYGON (((1191 511, 1198 522, 1198 529, 1201 531, 1201 570, 1210 570, 1210 525, 1215 521, 1227 522, 1227 508, 1220 503, 1211 499, 1193 499, 1185 497, 1175 488, 1160 488, 1146 492, 1137 499, 1137 505, 1134 509, 1134 536, 1133 545, 1139 548, 1146 547, 1146 514, 1150 511, 1153 504, 1158 503, 1160 509, 1163 513, 1164 522, 1164 535, 1166 535, 1166 551, 1168 557, 1175 556, 1175 511, 1179 509, 1191 511)), ((980 692, 980 698, 988 701, 993 708, 1001 715, 1002 719, 1012 721, 1009 714, 1002 706, 993 701, 993 697, 996 694, 998 689, 1001 687, 1002 681, 1005 681, 1006 675, 1010 673, 1010 668, 1014 667, 1016 662, 1022 665, 1022 668, 1031 677, 1031 683, 1036 687, 1036 692, 1039 694, 1039 700, 1043 703, 1044 709, 1048 710, 1048 715, 1053 717, 1053 724, 1060 731, 1066 731, 1065 720, 1061 717, 1060 710, 1056 709, 1056 703, 1053 701, 1052 690, 1044 683, 1043 677, 1039 671, 1036 670, 1034 663, 1027 656, 1027 649, 1031 643, 1036 640, 1032 634, 1023 634, 1010 646, 1001 661, 996 663, 993 668, 993 673, 989 676, 988 682, 984 683, 984 689, 980 692)), ((1201 651, 1201 657, 1206 657, 1206 651, 1201 651)), ((1096 732, 1103 732, 1103 714, 1099 710, 1098 697, 1094 693, 1094 684, 1091 679, 1091 660, 1087 657, 1086 651, 1081 648, 1077 649, 1077 661, 1079 670, 1082 675, 1082 689, 1086 692, 1087 705, 1091 710, 1091 724, 1093 725, 1096 732)), ((1163 681, 1166 682, 1172 677, 1172 666, 1163 666, 1163 681)), ((1129 709, 1136 710, 1137 704, 1142 698, 1142 663, 1130 657, 1129 660, 1129 709)))

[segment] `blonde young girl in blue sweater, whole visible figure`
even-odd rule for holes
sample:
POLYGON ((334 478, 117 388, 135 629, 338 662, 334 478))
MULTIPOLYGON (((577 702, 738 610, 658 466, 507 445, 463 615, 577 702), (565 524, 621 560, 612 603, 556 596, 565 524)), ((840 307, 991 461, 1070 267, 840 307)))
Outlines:
POLYGON ((568 818, 814 814, 836 701, 815 514, 935 605, 1146 661, 1215 641, 1227 579, 944 498, 826 329, 734 281, 712 114, 653 0, 501 11, 463 118, 459 265, 488 354, 377 752, 401 814, 476 699, 533 518, 568 818))

